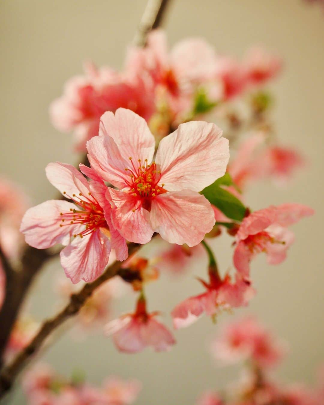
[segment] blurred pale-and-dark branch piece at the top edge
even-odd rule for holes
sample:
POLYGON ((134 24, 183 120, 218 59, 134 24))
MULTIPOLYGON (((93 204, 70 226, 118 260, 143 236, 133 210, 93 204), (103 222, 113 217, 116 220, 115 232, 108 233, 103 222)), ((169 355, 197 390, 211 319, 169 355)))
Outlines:
POLYGON ((144 46, 146 44, 147 34, 161 25, 169 3, 170 0, 148 0, 134 38, 135 45, 144 46))

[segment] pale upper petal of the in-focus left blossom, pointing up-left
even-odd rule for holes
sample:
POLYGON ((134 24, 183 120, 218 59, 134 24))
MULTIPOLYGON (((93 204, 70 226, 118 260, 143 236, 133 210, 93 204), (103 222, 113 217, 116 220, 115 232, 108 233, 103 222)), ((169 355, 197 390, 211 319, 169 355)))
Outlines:
POLYGON ((89 185, 87 179, 70 164, 65 163, 49 163, 46 166, 46 176, 49 181, 67 198, 73 194, 82 193, 87 196, 89 193, 89 185))

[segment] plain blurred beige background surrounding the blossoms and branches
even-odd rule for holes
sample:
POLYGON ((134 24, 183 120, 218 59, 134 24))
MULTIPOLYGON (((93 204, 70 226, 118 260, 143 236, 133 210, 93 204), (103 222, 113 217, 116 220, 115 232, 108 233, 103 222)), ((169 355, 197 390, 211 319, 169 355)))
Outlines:
MULTIPOLYGON (((20 183, 34 204, 56 195, 45 177, 47 163, 74 164, 79 159, 72 136, 51 126, 50 102, 61 95, 66 79, 81 72, 85 60, 98 66, 123 66, 125 48, 145 4, 146 0, 0 3, 0 173, 20 183)), ((101 330, 77 340, 67 331, 42 358, 66 375, 82 369, 97 384, 107 375, 136 377, 143 383, 140 404, 191 404, 201 391, 222 388, 237 376, 235 367, 213 364, 208 342, 222 323, 253 313, 289 342, 280 379, 312 383, 324 360, 323 10, 303 0, 173 0, 164 27, 170 45, 187 36, 203 36, 220 53, 241 57, 251 45, 261 44, 284 58, 284 73, 273 85, 274 120, 282 143, 299 148, 308 167, 285 188, 258 183, 250 188, 246 201, 253 209, 304 203, 316 209, 316 216, 294 226, 296 242, 283 264, 268 266, 264 256, 253 262, 258 294, 248 308, 220 315, 216 326, 203 317, 176 332, 178 344, 171 352, 120 354, 101 330)), ((230 243, 222 237, 213 244, 222 271, 231 266, 230 243)), ((146 289, 149 309, 163 311, 170 326, 174 305, 200 291, 194 276, 202 275, 206 265, 201 260, 184 277, 162 275, 159 282, 151 283, 146 289)), ((37 320, 55 312, 57 273, 63 270, 54 260, 34 285, 29 310, 37 320)), ((116 301, 115 314, 132 310, 134 300, 131 294, 116 301)), ((25 403, 18 385, 7 402, 25 403)))

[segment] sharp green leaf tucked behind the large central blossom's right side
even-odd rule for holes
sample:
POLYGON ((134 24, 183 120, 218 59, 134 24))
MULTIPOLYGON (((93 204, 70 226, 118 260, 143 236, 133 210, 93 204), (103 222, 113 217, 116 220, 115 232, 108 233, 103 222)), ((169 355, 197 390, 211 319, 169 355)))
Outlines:
POLYGON ((225 176, 217 179, 213 184, 204 188, 201 194, 203 194, 212 205, 215 205, 215 207, 222 211, 222 213, 228 218, 235 221, 242 221, 246 213, 246 207, 238 198, 233 196, 233 194, 220 187, 220 185, 232 184, 229 183, 231 177, 225 176))

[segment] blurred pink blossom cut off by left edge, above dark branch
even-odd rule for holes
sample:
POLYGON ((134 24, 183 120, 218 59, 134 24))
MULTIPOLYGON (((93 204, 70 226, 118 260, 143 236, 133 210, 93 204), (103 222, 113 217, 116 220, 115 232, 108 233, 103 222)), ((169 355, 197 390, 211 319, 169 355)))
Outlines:
POLYGON ((23 247, 21 218, 29 207, 26 194, 13 182, 0 177, 0 245, 4 254, 18 259, 23 247))

